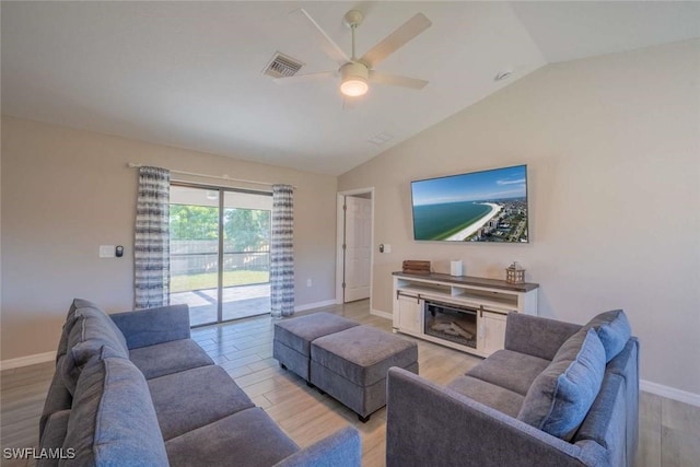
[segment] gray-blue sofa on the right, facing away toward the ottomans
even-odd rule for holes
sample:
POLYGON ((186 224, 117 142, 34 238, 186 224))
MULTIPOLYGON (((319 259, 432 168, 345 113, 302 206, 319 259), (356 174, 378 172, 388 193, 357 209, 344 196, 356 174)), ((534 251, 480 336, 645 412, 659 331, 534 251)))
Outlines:
POLYGON ((442 387, 387 384, 387 467, 631 466, 639 341, 622 311, 585 326, 510 314, 505 348, 442 387))

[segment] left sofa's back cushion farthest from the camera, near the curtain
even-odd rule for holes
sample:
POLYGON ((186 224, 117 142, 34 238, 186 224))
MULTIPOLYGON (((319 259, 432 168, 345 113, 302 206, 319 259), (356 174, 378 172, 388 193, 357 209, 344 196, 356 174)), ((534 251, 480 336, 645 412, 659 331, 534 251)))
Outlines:
POLYGON ((71 394, 83 365, 103 354, 103 349, 105 357, 129 358, 124 335, 105 312, 94 306, 80 306, 75 308, 74 316, 75 322, 68 335, 68 351, 59 358, 61 377, 71 394))

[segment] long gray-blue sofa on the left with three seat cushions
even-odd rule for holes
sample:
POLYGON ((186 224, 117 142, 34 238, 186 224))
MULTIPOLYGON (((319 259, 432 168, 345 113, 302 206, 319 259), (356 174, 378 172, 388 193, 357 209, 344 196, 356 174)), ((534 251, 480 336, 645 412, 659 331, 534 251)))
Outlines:
POLYGON ((190 339, 186 305, 107 315, 80 299, 63 326, 39 444, 60 448, 66 466, 361 463, 350 425, 300 448, 190 339))

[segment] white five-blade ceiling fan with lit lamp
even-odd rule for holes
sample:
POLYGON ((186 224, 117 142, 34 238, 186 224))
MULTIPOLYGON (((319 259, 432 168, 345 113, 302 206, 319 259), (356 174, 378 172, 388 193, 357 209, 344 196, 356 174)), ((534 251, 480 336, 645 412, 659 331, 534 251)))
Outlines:
POLYGON ((374 69, 382 60, 406 45, 409 40, 425 31, 432 24, 423 14, 418 13, 382 42, 372 47, 362 57, 357 58, 354 51, 354 33, 364 15, 359 10, 350 10, 345 16, 345 23, 352 31, 352 56, 348 57, 345 51, 326 34, 316 21, 304 9, 298 10, 314 26, 322 40, 322 48, 340 68, 334 71, 322 71, 318 73, 296 74, 293 77, 277 78, 277 82, 307 81, 316 78, 340 77, 340 92, 348 97, 364 95, 370 89, 369 83, 381 83, 394 86, 402 86, 420 90, 428 84, 425 80, 401 77, 398 74, 384 73, 374 69))

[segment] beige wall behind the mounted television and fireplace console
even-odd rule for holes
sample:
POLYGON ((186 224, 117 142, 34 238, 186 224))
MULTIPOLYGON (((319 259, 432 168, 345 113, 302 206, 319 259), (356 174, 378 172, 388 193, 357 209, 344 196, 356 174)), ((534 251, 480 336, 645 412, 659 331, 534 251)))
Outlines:
POLYGON ((376 187, 373 306, 431 259, 503 278, 518 260, 540 315, 627 311, 642 378, 700 395, 700 42, 548 66, 343 174, 376 187), (417 243, 410 180, 528 165, 528 245, 417 243))

